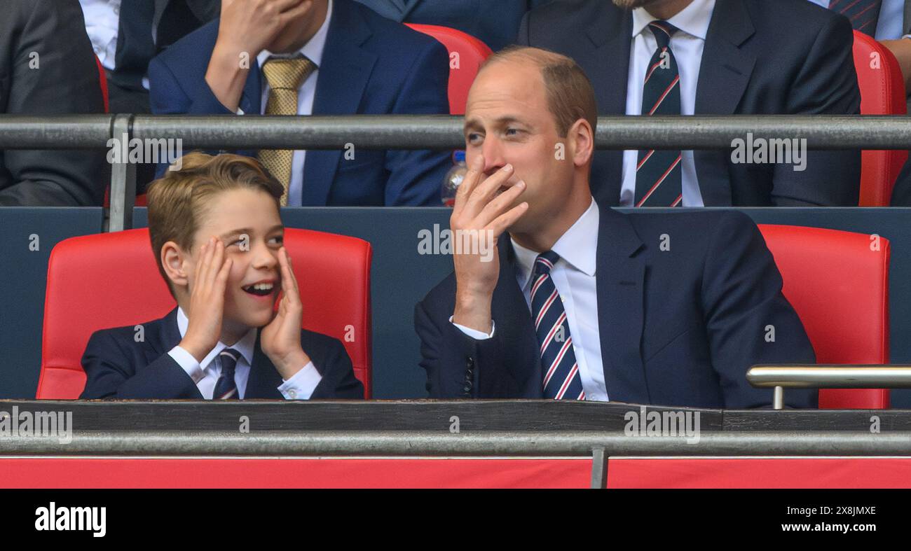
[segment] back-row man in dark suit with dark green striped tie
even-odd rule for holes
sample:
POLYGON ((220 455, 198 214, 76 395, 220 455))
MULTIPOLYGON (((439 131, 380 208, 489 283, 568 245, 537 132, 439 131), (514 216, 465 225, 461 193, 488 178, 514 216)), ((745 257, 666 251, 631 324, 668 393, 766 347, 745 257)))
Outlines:
MULTIPOLYGON (((670 89, 678 105, 655 115, 860 112, 851 25, 805 0, 561 0, 530 11, 517 43, 576 60, 595 87, 600 115, 648 115, 645 76, 662 46, 650 25, 656 21, 671 31, 661 59, 673 62, 680 80, 670 89)), ((595 199, 638 205, 646 153, 596 152, 595 199)), ((793 162, 742 162, 730 149, 676 153, 681 160, 668 179, 676 179, 683 207, 857 205, 859 151, 803 152, 805 170, 793 162)))

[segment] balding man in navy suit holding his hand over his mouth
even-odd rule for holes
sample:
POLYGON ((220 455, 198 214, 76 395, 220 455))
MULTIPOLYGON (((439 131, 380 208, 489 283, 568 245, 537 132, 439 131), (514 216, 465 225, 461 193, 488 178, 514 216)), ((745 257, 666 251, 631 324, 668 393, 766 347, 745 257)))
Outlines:
POLYGON ((478 74, 455 271, 415 307, 431 397, 771 403, 747 369, 815 358, 762 235, 734 211, 599 207, 595 106, 578 65, 552 52, 507 48, 478 74))

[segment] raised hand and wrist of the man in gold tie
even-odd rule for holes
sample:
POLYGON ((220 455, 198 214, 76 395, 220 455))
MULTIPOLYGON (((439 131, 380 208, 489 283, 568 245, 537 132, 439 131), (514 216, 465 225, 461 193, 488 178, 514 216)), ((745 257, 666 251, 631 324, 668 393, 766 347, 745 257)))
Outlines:
POLYGON ((219 36, 206 69, 206 83, 221 105, 237 111, 256 56, 312 6, 312 0, 221 0, 219 36))

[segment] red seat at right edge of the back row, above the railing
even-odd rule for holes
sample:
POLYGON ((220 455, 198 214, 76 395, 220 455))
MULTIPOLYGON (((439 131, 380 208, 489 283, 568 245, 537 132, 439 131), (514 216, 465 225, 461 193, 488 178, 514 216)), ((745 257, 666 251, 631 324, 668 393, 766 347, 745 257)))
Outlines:
MULTIPOLYGON (((861 115, 906 115, 905 80, 896 56, 872 37, 855 31, 861 115)), ((908 157, 905 149, 865 150, 861 154, 861 207, 888 207, 892 188, 908 157)))

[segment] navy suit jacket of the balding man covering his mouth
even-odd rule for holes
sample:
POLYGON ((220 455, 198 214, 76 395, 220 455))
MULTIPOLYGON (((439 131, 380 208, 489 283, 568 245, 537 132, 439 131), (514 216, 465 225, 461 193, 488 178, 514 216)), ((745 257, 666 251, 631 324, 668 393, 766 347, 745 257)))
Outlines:
MULTIPOLYGON (((455 274, 415 307, 421 365, 433 398, 541 398, 534 324, 508 238, 491 313, 475 340, 449 321, 455 274)), ((746 372, 757 363, 815 363, 772 254, 735 211, 621 214, 600 209, 596 263, 604 381, 611 401, 750 408, 772 402, 746 372), (660 250, 662 236, 670 250, 660 250), (774 327, 774 342, 767 342, 774 327)), ((815 391, 785 393, 815 407, 815 391)))

